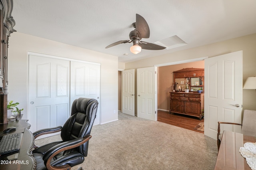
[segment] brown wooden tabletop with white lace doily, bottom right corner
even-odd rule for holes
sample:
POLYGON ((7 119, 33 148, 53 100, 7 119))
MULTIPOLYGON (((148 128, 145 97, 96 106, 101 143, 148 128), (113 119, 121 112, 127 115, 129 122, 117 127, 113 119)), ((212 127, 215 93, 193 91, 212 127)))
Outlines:
POLYGON ((214 170, 250 170, 239 152, 246 142, 256 142, 256 138, 224 130, 214 170))

